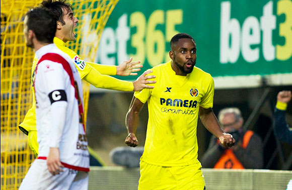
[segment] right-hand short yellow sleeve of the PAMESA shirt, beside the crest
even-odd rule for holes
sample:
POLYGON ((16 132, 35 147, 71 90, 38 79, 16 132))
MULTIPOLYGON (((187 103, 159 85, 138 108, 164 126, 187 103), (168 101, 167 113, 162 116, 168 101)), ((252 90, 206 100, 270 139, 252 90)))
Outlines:
POLYGON ((214 80, 209 75, 209 81, 206 83, 207 89, 204 94, 204 97, 202 97, 202 100, 200 102, 200 107, 202 108, 212 108, 213 107, 213 98, 214 98, 214 80))

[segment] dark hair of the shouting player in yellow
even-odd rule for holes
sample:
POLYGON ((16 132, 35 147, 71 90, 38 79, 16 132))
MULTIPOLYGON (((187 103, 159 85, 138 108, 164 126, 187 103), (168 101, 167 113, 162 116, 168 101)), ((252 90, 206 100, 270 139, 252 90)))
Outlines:
POLYGON ((40 4, 40 7, 45 7, 51 11, 51 14, 56 17, 56 20, 62 23, 62 25, 65 25, 65 22, 63 20, 63 10, 64 8, 67 11, 72 10, 72 5, 66 3, 66 0, 43 0, 40 4))

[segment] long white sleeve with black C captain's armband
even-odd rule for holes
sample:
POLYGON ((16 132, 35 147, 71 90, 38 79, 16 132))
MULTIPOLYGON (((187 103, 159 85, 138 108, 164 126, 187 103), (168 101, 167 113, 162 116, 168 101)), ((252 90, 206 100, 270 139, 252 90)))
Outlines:
POLYGON ((62 65, 49 60, 44 60, 38 65, 38 73, 41 78, 42 88, 50 99, 51 128, 48 134, 49 147, 58 148, 65 125, 67 97, 65 92, 68 74, 62 65))

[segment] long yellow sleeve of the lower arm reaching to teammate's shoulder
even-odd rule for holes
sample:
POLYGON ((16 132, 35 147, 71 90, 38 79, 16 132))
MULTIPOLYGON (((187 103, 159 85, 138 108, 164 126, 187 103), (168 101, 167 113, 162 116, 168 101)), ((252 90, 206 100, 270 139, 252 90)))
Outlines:
MULTIPOLYGON (((88 66, 90 65, 88 64, 88 66)), ((108 75, 100 74, 95 68, 92 67, 90 72, 83 79, 97 88, 106 88, 120 91, 134 90, 133 82, 119 80, 108 75)))

